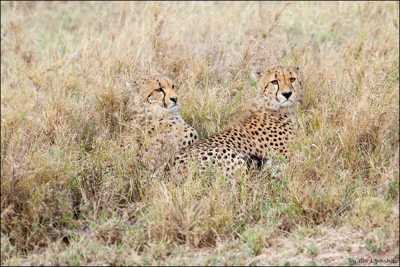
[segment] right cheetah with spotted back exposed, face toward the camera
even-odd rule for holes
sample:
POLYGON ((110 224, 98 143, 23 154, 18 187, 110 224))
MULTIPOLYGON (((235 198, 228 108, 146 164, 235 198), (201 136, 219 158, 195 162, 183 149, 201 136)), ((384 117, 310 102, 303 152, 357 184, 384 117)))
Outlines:
POLYGON ((173 165, 186 165, 190 157, 236 170, 252 158, 270 159, 271 153, 286 157, 288 141, 297 125, 294 105, 302 101, 301 67, 274 66, 263 72, 253 71, 257 96, 250 108, 220 134, 202 139, 179 151, 173 165))

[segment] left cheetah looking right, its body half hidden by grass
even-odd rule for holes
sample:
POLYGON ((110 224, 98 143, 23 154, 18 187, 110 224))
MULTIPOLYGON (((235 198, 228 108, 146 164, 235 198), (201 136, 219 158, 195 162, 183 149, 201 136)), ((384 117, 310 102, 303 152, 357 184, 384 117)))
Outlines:
MULTIPOLYGON (((124 157, 134 155, 136 159, 157 169, 168 160, 171 153, 198 140, 196 130, 186 124, 179 114, 180 104, 174 92, 174 80, 161 74, 140 75, 136 80, 127 80, 126 87, 130 92, 132 112, 124 122, 125 130, 118 134, 120 141, 108 145, 112 157, 121 149, 125 151, 124 157)), ((92 150, 86 153, 88 160, 83 162, 81 168, 82 173, 90 173, 89 177, 93 176, 96 168, 92 166, 96 165, 93 154, 92 150)), ((104 173, 114 176, 112 161, 106 164, 104 173)))

